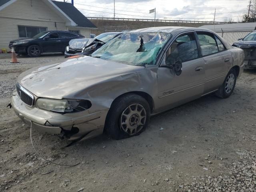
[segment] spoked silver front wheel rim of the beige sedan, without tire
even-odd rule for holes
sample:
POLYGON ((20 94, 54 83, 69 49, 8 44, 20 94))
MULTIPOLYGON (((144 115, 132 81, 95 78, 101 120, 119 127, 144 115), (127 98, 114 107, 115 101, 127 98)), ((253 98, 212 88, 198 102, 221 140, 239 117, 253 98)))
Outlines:
POLYGON ((140 104, 129 105, 121 115, 120 128, 129 135, 140 132, 146 122, 146 110, 140 104))

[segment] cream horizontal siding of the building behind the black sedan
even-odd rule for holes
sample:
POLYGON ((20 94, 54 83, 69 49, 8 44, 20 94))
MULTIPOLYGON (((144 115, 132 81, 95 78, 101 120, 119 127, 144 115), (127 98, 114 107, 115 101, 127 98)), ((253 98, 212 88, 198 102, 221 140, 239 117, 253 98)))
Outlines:
MULTIPOLYGON (((47 30, 68 30, 66 20, 53 6, 43 0, 16 0, 0 11, 0 49, 8 48, 11 40, 19 38, 18 26, 46 27, 47 30)), ((69 26, 90 38, 90 29, 69 26)))

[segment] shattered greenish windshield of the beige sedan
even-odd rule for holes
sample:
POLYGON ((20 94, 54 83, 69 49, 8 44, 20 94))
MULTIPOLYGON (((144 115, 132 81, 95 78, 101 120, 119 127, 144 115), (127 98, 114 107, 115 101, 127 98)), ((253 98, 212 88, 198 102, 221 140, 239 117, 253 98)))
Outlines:
POLYGON ((154 65, 171 36, 163 32, 124 33, 96 50, 92 57, 136 66, 154 65))

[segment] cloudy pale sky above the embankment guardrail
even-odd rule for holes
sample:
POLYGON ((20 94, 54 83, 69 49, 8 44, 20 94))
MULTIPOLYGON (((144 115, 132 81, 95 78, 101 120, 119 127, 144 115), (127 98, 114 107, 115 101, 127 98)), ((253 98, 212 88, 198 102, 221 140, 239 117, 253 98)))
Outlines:
MULTIPOLYGON (((213 21, 216 8, 216 22, 238 22, 248 5, 247 0, 115 0, 115 17, 154 19, 149 10, 156 8, 156 19, 213 21)), ((114 0, 74 0, 74 6, 87 17, 114 17, 114 0)))

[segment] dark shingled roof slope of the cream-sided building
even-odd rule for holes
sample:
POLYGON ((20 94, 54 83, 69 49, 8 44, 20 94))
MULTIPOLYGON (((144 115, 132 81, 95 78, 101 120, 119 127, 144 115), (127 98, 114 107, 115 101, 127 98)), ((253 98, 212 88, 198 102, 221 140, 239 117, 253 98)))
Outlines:
POLYGON ((71 3, 52 1, 58 8, 60 8, 67 16, 69 16, 78 27, 97 28, 86 16, 84 16, 71 3))

